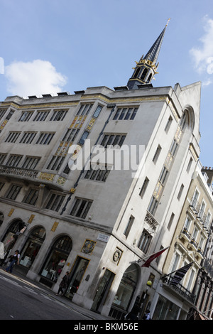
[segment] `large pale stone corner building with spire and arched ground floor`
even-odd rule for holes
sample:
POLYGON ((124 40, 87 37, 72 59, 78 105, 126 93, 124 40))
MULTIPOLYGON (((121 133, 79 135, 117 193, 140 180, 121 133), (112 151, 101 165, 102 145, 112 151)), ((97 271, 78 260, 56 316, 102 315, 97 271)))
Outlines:
POLYGON ((136 300, 143 305, 145 293, 151 303, 165 254, 149 268, 141 264, 170 245, 175 227, 166 226, 172 214, 178 222, 200 154, 200 82, 151 84, 164 33, 124 87, 0 104, 0 240, 7 254, 19 249, 17 270, 53 291, 69 271, 66 297, 111 318, 123 318, 136 300), (81 154, 69 149, 77 144, 85 157, 88 142, 104 152, 116 148, 121 168, 107 158, 96 169, 70 171, 81 154), (141 156, 132 153, 140 147, 141 156), (132 170, 125 163, 135 156, 132 170))

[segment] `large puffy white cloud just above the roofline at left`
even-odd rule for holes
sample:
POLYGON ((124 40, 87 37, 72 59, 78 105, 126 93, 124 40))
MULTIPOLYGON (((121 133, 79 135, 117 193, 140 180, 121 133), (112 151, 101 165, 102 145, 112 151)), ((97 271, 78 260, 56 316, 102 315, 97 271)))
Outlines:
POLYGON ((8 91, 12 95, 26 97, 29 95, 55 94, 62 91, 67 78, 57 72, 46 60, 32 62, 14 62, 5 67, 8 91))

